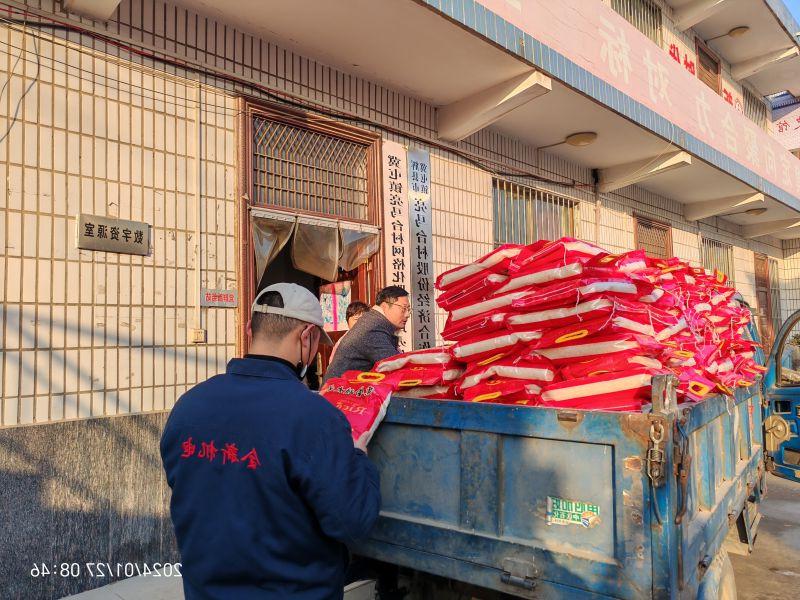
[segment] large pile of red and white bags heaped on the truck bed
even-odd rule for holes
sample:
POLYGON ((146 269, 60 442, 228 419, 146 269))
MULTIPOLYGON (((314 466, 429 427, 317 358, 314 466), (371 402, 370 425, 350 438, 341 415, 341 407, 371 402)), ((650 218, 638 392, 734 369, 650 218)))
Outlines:
POLYGON ((641 410, 653 375, 682 400, 732 393, 763 369, 743 336, 747 308, 726 278, 641 250, 572 238, 504 245, 436 282, 442 336, 464 400, 641 410))

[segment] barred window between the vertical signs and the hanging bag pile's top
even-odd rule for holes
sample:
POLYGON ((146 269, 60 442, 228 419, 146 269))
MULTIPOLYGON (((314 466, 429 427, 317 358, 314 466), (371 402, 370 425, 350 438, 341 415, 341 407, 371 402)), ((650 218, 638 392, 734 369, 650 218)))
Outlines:
POLYGON ((495 246, 575 235, 574 200, 502 179, 492 196, 495 246))

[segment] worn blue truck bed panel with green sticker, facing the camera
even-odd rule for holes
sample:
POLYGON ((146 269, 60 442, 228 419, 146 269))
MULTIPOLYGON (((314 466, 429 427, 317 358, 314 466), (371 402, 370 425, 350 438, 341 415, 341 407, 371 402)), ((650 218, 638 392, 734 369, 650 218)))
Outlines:
POLYGON ((395 398, 358 550, 519 596, 650 595, 644 414, 395 398))

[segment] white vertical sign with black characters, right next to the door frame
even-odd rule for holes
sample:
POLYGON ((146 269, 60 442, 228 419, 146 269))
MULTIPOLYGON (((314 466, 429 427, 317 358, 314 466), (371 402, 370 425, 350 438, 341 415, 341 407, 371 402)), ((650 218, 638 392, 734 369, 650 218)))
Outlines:
MULTIPOLYGON (((408 226, 408 164, 406 149, 383 140, 383 240, 386 285, 399 285, 411 293, 411 246, 408 226)), ((413 302, 413 299, 412 299, 413 302)), ((400 352, 411 350, 409 329, 400 332, 400 352)))

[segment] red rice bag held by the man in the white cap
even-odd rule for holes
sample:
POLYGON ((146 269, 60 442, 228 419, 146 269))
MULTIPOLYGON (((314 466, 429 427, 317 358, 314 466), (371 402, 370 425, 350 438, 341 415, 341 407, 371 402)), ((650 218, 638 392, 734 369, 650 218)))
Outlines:
POLYGON ((353 441, 366 446, 386 415, 392 386, 359 380, 360 375, 348 371, 342 377, 329 379, 320 394, 347 418, 353 441))

